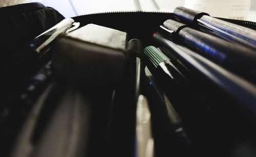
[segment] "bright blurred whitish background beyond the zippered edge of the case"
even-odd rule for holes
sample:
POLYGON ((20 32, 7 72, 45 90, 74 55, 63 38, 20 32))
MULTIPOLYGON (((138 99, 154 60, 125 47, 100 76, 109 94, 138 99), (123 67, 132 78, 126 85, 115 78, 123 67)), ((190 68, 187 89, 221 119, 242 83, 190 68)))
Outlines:
POLYGON ((167 11, 184 6, 211 16, 256 21, 256 0, 37 0, 65 17, 112 11, 167 11))

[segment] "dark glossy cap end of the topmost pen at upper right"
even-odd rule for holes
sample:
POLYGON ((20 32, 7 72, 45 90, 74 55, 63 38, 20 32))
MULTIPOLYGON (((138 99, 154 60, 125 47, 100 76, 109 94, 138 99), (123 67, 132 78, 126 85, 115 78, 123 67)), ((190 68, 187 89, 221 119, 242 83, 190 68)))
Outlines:
POLYGON ((210 16, 207 13, 200 12, 200 11, 193 10, 193 9, 184 8, 184 7, 177 7, 174 10, 174 14, 176 15, 176 17, 178 17, 182 21, 189 23, 189 24, 196 24, 197 19, 201 18, 203 15, 210 16))

